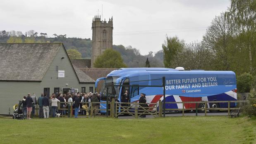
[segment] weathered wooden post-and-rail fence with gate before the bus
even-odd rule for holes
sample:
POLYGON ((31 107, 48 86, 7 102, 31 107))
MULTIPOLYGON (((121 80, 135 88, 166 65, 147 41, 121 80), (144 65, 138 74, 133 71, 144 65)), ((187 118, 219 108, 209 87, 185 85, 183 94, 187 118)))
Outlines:
MULTIPOLYGON (((238 100, 238 101, 202 101, 202 102, 165 102, 165 104, 182 104, 182 109, 165 109, 165 111, 182 111, 182 116, 184 116, 185 111, 196 111, 196 116, 198 113, 198 110, 204 111, 204 115, 207 116, 208 110, 223 110, 227 111, 228 116, 230 116, 230 110, 233 109, 239 109, 242 105, 247 103, 246 100, 238 100), (208 104, 211 103, 227 103, 227 108, 208 108, 208 104), (237 103, 237 106, 234 108, 230 108, 230 103, 237 103), (195 108, 185 108, 185 104, 196 104, 195 108), (199 104, 204 104, 203 108, 199 107, 199 104)), ((58 102, 58 110, 68 110, 71 113, 69 113, 69 117, 73 116, 73 108, 72 108, 73 102, 58 102), (67 108, 60 108, 60 104, 66 104, 67 106, 70 105, 67 108)), ((80 102, 80 104, 89 104, 89 102, 80 102)), ((91 102, 91 104, 107 104, 107 102, 91 102)), ((112 102, 108 102, 108 113, 110 116, 106 115, 106 117, 114 118, 118 117, 122 114, 129 114, 134 116, 135 118, 138 118, 139 116, 146 114, 151 115, 153 117, 163 117, 163 102, 161 100, 158 101, 158 103, 146 103, 148 106, 145 106, 144 103, 125 103, 125 102, 115 102, 115 99, 112 99, 112 102)), ((98 111, 99 109, 93 109, 91 106, 90 108, 80 108, 81 110, 85 110, 86 112, 91 111, 90 116, 96 116, 95 113, 93 115, 92 111, 98 111)), ((101 111, 106 111, 106 109, 100 109, 101 111)))

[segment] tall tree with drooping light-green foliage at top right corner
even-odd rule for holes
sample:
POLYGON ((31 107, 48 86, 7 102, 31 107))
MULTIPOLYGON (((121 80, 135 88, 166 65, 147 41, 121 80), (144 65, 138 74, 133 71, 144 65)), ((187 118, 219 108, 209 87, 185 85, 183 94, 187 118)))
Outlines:
POLYGON ((247 52, 247 63, 251 73, 256 69, 256 1, 231 0, 228 16, 236 25, 237 47, 247 52))

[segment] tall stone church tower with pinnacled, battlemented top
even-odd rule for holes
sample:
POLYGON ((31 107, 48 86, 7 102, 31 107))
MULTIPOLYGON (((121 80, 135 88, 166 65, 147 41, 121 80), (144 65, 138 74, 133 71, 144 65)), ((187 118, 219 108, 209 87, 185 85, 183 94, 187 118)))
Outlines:
POLYGON ((91 56, 91 68, 96 58, 103 54, 106 49, 112 49, 113 43, 113 18, 109 21, 101 21, 99 16, 95 16, 92 22, 93 36, 92 36, 92 56, 91 56))

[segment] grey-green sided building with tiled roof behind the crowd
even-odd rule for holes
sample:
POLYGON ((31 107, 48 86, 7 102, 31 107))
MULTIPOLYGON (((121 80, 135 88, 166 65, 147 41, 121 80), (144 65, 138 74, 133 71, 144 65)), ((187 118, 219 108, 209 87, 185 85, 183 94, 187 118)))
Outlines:
POLYGON ((28 93, 93 92, 95 80, 72 66, 60 43, 0 44, 0 114, 28 93))

